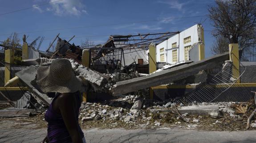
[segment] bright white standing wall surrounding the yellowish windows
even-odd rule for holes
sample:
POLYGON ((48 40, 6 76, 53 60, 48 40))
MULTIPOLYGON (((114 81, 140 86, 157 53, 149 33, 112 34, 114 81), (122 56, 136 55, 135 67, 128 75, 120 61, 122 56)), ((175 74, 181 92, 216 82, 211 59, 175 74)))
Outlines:
POLYGON ((165 50, 165 62, 168 62, 170 64, 174 64, 172 62, 172 50, 176 50, 178 52, 178 61, 184 61, 185 60, 185 51, 184 46, 193 45, 195 43, 199 42, 199 33, 198 33, 198 24, 180 32, 179 34, 176 34, 172 36, 171 38, 163 41, 162 43, 159 43, 156 45, 156 61, 160 62, 160 49, 164 48, 165 50), (191 42, 184 44, 183 39, 187 38, 188 36, 191 36, 191 42), (172 49, 171 44, 177 42, 177 47, 172 49))

